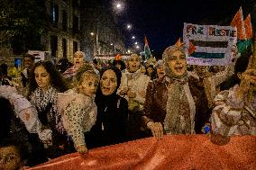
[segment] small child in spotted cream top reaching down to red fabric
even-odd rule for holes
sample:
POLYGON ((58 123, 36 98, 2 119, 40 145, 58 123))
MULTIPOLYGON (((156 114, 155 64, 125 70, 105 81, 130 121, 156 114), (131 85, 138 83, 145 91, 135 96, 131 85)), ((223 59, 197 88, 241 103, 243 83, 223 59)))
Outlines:
POLYGON ((99 76, 90 65, 78 69, 76 85, 58 95, 58 109, 62 115, 64 128, 72 137, 74 147, 79 153, 87 152, 85 134, 96 122, 96 103, 94 101, 99 76))

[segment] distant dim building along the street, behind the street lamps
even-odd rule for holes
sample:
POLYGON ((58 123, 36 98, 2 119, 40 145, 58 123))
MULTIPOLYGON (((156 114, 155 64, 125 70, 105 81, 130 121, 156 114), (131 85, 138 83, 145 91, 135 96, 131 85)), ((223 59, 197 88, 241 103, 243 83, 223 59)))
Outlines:
POLYGON ((99 0, 81 3, 81 49, 89 58, 124 53, 124 36, 114 22, 114 14, 99 0))

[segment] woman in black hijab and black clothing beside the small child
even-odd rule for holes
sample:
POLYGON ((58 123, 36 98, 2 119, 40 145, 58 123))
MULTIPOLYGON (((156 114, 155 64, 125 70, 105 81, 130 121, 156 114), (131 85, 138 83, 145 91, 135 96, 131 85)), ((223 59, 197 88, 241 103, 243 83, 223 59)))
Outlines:
POLYGON ((117 67, 106 67, 100 75, 100 86, 96 93, 96 125, 91 130, 99 137, 99 146, 126 140, 128 103, 116 94, 121 76, 122 73, 117 67))

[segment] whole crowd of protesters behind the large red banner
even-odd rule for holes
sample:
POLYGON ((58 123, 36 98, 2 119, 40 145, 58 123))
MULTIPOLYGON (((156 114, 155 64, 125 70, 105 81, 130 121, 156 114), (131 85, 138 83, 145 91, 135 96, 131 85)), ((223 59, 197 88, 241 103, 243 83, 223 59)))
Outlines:
POLYGON ((77 51, 73 63, 54 65, 25 54, 20 82, 1 65, 0 169, 165 134, 211 133, 219 145, 234 134, 256 135, 251 52, 238 57, 233 47, 226 67, 188 66, 182 44, 158 61, 85 58, 77 51))

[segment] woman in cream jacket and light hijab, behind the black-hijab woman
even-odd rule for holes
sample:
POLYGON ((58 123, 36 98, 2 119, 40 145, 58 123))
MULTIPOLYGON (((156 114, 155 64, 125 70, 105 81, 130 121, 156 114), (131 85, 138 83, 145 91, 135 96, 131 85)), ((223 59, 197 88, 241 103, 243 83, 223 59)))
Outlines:
POLYGON ((128 101, 128 136, 131 140, 145 137, 142 129, 142 110, 147 85, 151 78, 142 73, 141 60, 142 58, 137 54, 132 54, 128 58, 127 68, 122 73, 121 85, 117 90, 117 94, 128 101))

